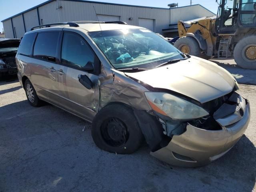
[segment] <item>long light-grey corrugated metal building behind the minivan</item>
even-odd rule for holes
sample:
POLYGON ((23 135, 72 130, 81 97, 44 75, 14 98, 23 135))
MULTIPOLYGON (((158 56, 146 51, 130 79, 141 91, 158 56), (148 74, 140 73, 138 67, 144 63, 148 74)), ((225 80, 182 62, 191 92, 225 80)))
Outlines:
POLYGON ((48 0, 2 22, 6 38, 21 38, 33 26, 79 20, 96 21, 96 14, 100 21, 124 21, 161 34, 163 29, 168 29, 170 24, 177 23, 178 20, 214 15, 200 4, 156 8, 87 0, 48 0))

